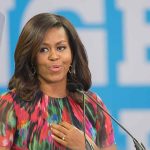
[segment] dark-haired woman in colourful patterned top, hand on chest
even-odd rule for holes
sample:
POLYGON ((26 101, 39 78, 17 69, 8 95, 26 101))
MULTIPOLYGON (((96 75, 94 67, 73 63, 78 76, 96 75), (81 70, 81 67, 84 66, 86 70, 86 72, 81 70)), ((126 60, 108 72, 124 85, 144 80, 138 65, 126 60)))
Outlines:
POLYGON ((115 150, 110 118, 82 94, 91 75, 86 51, 71 23, 42 13, 24 26, 15 51, 10 91, 0 97, 0 149, 115 150), (85 123, 85 124, 84 124, 85 123), (85 132, 84 132, 85 131, 85 132))

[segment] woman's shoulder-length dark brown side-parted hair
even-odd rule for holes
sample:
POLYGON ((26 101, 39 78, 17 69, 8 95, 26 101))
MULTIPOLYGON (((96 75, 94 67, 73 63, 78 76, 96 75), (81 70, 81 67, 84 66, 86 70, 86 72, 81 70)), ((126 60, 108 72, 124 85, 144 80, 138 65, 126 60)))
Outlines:
POLYGON ((73 25, 63 16, 41 13, 26 23, 15 50, 15 71, 8 88, 15 89, 23 99, 31 100, 40 91, 40 83, 34 74, 36 55, 46 32, 54 27, 63 27, 69 39, 73 61, 72 73, 68 73, 67 77, 68 82, 80 83, 84 90, 91 86, 86 50, 73 25))

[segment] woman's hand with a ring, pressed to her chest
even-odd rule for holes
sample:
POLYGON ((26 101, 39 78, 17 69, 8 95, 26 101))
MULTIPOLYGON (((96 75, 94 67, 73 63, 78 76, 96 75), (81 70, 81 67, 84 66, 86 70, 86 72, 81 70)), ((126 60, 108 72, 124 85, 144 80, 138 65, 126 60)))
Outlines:
POLYGON ((85 150, 84 133, 67 122, 51 125, 52 137, 72 150, 85 150))

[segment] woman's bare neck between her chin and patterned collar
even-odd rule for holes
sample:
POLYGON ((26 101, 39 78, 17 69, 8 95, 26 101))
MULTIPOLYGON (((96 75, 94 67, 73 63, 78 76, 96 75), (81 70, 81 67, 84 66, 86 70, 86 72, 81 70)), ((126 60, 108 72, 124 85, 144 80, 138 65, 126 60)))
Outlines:
POLYGON ((63 98, 67 96, 66 84, 60 83, 49 83, 44 85, 41 84, 40 88, 44 94, 50 97, 63 98))

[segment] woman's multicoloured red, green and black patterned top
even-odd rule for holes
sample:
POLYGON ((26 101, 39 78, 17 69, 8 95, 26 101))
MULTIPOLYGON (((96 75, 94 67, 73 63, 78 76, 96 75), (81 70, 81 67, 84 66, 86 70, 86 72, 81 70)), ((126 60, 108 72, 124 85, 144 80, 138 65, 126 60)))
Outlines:
MULTIPOLYGON (((104 106, 101 99, 96 98, 104 106)), ((114 143, 110 117, 86 97, 86 134, 99 147, 114 143)), ((66 121, 83 130, 83 110, 70 96, 51 98, 39 94, 35 101, 21 100, 14 91, 0 96, 0 146, 12 150, 62 150, 53 140, 50 123, 66 121)))

